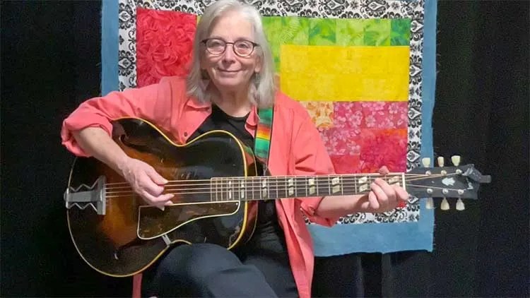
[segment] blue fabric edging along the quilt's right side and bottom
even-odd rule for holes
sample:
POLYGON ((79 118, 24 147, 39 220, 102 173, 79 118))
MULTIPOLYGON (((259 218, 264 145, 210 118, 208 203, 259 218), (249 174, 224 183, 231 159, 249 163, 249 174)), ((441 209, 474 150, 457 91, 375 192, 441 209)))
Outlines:
MULTIPOLYGON (((431 157, 432 109, 436 87, 436 16, 437 0, 425 0, 423 27, 423 106, 421 155, 431 157)), ((355 252, 390 253, 394 251, 432 251, 434 210, 420 201, 420 220, 406 223, 309 225, 315 256, 337 256, 355 252)))

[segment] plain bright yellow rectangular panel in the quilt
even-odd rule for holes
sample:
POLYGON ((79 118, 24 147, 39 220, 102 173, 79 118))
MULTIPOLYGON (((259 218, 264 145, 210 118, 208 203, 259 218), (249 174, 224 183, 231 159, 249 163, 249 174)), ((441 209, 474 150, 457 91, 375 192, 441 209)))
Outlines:
POLYGON ((409 48, 281 46, 281 90, 302 101, 407 101, 409 48))

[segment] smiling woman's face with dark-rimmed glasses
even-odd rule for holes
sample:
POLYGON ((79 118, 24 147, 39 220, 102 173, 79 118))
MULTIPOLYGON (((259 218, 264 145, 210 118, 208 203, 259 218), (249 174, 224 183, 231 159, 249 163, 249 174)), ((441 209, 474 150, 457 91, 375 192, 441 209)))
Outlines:
POLYGON ((247 90, 252 74, 259 73, 261 62, 253 42, 251 23, 235 11, 219 17, 213 24, 203 44, 201 68, 221 92, 247 90))

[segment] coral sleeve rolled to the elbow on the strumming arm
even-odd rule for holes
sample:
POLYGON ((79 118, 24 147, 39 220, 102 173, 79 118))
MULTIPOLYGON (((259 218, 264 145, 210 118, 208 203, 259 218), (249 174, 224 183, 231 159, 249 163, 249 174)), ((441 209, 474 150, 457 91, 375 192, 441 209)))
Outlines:
POLYGON ((170 99, 160 96, 164 93, 170 95, 170 92, 163 90, 165 88, 169 88, 168 84, 160 81, 158 84, 114 91, 103 97, 86 100, 64 119, 61 127, 62 145, 74 155, 87 157, 88 154, 73 138, 73 131, 100 127, 111 135, 111 121, 121 117, 138 117, 163 123, 170 109, 170 99))

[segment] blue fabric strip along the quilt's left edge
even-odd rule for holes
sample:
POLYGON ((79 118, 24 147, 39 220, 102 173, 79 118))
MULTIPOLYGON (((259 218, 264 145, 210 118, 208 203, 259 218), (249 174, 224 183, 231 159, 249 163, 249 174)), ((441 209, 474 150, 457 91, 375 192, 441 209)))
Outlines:
POLYGON ((118 90, 118 0, 102 1, 101 94, 118 90))

